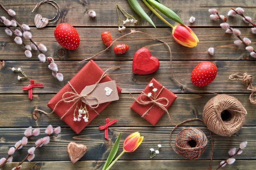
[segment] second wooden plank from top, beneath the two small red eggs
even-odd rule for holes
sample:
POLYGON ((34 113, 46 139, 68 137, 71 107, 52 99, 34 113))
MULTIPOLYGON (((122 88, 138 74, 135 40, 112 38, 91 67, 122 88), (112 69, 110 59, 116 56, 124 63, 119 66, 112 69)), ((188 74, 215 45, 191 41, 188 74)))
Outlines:
MULTIPOLYGON (((24 55, 25 47, 17 45, 14 42, 14 37, 9 37, 4 32, 4 27, 0 27, 0 60, 35 60, 38 61, 38 52, 33 52, 33 57, 28 59, 24 55)), ((33 40, 35 42, 44 43, 47 46, 47 55, 52 56, 55 60, 84 60, 96 55, 106 47, 101 40, 101 33, 108 30, 111 32, 113 40, 125 33, 130 32, 130 29, 119 33, 114 28, 77 28, 81 43, 76 50, 66 50, 62 48, 54 38, 54 28, 31 29, 33 40)), ((225 34, 221 28, 215 29, 193 29, 198 36, 200 42, 195 48, 186 48, 179 45, 172 38, 171 29, 137 29, 166 41, 172 49, 173 60, 255 60, 250 57, 250 53, 244 48, 244 45, 236 46, 233 42, 237 37, 225 34), (215 48, 215 55, 209 56, 209 47, 215 48)), ((256 45, 255 36, 250 32, 250 29, 241 29, 242 37, 248 37, 252 40, 252 46, 256 45)), ((123 55, 115 55, 113 47, 107 52, 102 53, 95 60, 132 60, 134 53, 142 48, 148 48, 151 55, 159 60, 169 60, 169 50, 159 41, 153 40, 150 37, 142 34, 129 35, 123 38, 118 43, 125 43, 130 46, 128 52, 123 55)))

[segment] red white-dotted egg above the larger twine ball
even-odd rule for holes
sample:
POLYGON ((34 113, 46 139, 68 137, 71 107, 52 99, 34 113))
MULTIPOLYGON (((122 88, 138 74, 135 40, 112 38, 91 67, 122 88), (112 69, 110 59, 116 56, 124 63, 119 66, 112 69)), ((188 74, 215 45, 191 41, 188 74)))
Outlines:
POLYGON ((195 86, 202 87, 212 83, 217 75, 218 69, 214 63, 204 61, 199 63, 191 73, 191 81, 195 86))

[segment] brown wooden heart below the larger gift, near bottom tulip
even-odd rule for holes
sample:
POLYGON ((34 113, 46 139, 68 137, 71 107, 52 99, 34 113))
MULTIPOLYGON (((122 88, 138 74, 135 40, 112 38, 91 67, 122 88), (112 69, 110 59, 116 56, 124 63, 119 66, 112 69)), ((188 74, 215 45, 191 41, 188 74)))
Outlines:
POLYGON ((87 151, 87 147, 83 144, 76 144, 75 142, 70 142, 67 145, 67 153, 70 157, 72 164, 75 164, 87 151))

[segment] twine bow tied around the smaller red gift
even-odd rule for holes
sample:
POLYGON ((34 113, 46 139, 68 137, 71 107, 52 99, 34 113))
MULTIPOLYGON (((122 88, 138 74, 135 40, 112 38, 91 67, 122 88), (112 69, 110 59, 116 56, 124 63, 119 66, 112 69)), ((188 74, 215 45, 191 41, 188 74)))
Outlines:
POLYGON ((164 88, 165 87, 163 86, 155 98, 150 98, 150 97, 148 97, 148 95, 146 95, 144 92, 142 92, 142 95, 140 95, 140 100, 137 100, 137 98, 134 98, 134 96, 131 95, 131 93, 130 93, 131 97, 134 98, 134 100, 137 101, 138 104, 141 104, 144 106, 148 105, 148 104, 152 104, 152 106, 141 116, 142 118, 144 118, 146 115, 148 115, 148 112, 156 105, 157 107, 160 107, 167 113, 169 121, 172 124, 170 114, 169 114, 168 110, 165 108, 166 106, 168 106, 169 100, 167 98, 158 98, 158 96, 160 95, 160 93, 163 91, 164 88), (143 101, 142 96, 146 96, 148 99, 150 99, 150 101, 143 101), (162 104, 162 103, 160 103, 160 101, 166 101, 166 104, 162 104))

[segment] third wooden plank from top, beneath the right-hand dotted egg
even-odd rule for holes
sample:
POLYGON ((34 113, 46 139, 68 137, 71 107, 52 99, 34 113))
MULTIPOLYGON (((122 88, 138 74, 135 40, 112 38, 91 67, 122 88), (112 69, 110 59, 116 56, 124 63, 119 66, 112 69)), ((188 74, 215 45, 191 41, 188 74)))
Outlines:
MULTIPOLYGON (((191 83, 190 75, 194 67, 200 62, 173 62, 173 71, 177 80, 196 90, 248 93, 246 87, 240 81, 231 81, 228 77, 236 72, 247 72, 253 75, 256 61, 213 61, 218 67, 217 77, 208 86, 199 88, 191 83)), ((27 86, 29 81, 18 81, 18 74, 12 72, 12 67, 21 66, 29 78, 35 79, 36 83, 44 84, 45 87, 42 89, 33 89, 34 94, 57 93, 86 62, 79 64, 78 61, 56 61, 56 63, 58 64, 58 69, 64 75, 64 81, 62 82, 52 76, 52 72, 48 69, 46 63, 40 63, 39 61, 5 61, 0 70, 0 93, 27 93, 22 91, 22 86, 27 86)), ((111 71, 108 74, 122 88, 122 93, 141 92, 152 78, 155 78, 172 92, 183 92, 183 87, 178 85, 172 78, 169 61, 160 61, 160 68, 157 72, 144 76, 132 73, 132 61, 97 61, 96 63, 104 70, 113 66, 121 66, 121 69, 111 71)), ((185 92, 189 91, 186 90, 185 92)))

